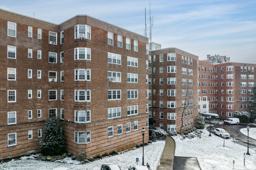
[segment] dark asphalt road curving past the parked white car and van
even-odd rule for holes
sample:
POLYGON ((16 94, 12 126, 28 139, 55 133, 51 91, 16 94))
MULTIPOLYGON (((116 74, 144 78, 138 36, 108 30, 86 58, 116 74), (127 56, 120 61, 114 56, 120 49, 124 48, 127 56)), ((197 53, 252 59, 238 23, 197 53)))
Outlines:
MULTIPOLYGON (((249 125, 249 126, 250 126, 250 128, 256 128, 256 126, 254 126, 254 125, 249 125)), ((214 127, 221 128, 221 125, 211 125, 211 133, 213 133, 214 127)), ((232 124, 230 126, 230 130, 228 133, 230 134, 230 137, 236 139, 235 143, 247 147, 247 136, 245 136, 239 132, 239 129, 246 128, 246 127, 247 127, 247 124, 238 124, 238 125, 232 124)), ((207 127, 207 130, 208 131, 210 130, 209 126, 207 127)), ((249 133, 250 133, 250 131, 249 131, 249 133)), ((256 148, 256 140, 249 138, 249 148, 252 148, 252 149, 256 148)))

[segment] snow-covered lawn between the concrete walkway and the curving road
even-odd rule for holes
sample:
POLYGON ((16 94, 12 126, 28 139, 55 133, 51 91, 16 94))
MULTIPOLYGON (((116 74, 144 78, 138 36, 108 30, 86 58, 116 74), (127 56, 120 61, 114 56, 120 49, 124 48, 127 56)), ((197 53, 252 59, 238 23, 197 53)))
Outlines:
POLYGON ((251 155, 246 155, 245 166, 243 166, 243 153, 247 152, 247 147, 233 143, 233 139, 225 139, 216 135, 209 135, 203 130, 201 138, 192 141, 182 141, 180 137, 174 136, 176 142, 175 156, 197 157, 202 170, 255 170, 255 150, 250 149, 251 155))

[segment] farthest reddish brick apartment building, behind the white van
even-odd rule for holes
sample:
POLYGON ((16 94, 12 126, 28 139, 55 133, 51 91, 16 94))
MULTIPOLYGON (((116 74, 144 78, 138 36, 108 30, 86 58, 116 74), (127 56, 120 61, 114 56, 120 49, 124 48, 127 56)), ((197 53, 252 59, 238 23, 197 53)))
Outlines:
POLYGON ((199 60, 198 65, 198 112, 222 119, 234 117, 235 111, 250 112, 256 64, 199 60))

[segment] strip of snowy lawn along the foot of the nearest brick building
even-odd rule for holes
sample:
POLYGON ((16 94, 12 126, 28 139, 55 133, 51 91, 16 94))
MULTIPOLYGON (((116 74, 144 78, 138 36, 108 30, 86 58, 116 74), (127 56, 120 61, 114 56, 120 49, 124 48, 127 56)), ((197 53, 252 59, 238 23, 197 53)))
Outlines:
MULTIPOLYGON (((165 141, 157 141, 144 146, 144 162, 148 162, 152 170, 156 170, 165 146, 165 141)), ((139 158, 138 165, 142 163, 142 147, 124 152, 114 156, 104 157, 98 161, 86 164, 68 164, 48 161, 37 161, 33 159, 12 160, 0 164, 0 170, 52 170, 56 167, 67 167, 70 170, 99 170, 102 164, 117 164, 122 170, 127 170, 130 165, 136 164, 136 157, 139 158)), ((64 159, 63 159, 64 160, 64 159)), ((72 162, 69 159, 66 161, 72 162)))

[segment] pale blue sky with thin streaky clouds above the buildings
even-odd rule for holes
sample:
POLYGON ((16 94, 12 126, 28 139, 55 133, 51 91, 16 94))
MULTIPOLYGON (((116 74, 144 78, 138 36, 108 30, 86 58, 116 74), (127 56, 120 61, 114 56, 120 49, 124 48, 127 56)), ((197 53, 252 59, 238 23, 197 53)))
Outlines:
MULTIPOLYGON (((149 0, 0 0, 0 8, 59 24, 89 15, 149 37, 149 0)), ((151 0, 152 42, 256 63, 256 0, 151 0)))

